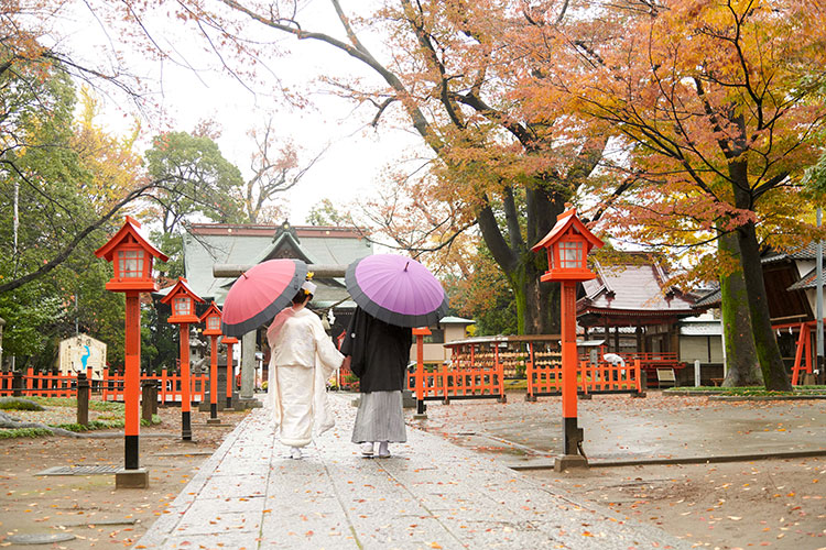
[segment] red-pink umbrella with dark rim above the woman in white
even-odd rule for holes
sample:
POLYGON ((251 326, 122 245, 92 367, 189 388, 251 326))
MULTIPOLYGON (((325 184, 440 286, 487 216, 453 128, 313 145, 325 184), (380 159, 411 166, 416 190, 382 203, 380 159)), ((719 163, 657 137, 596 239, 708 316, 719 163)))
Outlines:
POLYGON ((268 260, 246 271, 224 300, 221 332, 241 337, 286 307, 307 276, 301 260, 268 260))

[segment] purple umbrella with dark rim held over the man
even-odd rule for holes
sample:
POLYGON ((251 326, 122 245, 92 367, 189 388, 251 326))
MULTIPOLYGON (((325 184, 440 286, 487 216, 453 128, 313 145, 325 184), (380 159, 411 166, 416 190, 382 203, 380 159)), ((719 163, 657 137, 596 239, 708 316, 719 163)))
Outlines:
POLYGON ((447 312, 442 284, 427 267, 409 257, 362 257, 347 267, 345 283, 361 309, 390 324, 424 327, 447 312))

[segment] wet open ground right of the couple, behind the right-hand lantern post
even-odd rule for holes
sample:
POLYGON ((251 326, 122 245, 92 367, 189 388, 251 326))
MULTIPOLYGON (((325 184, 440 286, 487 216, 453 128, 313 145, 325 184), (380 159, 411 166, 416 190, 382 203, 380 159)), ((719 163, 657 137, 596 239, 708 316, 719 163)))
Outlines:
MULTIPOLYGON (((826 400, 711 400, 649 392, 578 405, 591 466, 826 455, 826 400)), ((414 426, 514 468, 551 468, 562 449, 559 397, 430 403, 414 426)))

